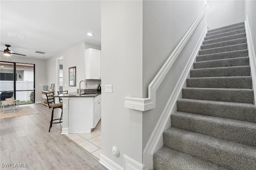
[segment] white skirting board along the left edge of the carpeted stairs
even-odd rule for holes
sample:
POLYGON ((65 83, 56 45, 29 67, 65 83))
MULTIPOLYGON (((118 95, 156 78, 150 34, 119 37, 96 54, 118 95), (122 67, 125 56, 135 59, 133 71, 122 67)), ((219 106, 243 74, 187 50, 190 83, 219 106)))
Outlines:
POLYGON ((202 42, 204 41, 204 37, 207 32, 207 26, 204 28, 198 42, 196 43, 196 46, 182 72, 182 75, 180 76, 180 79, 178 80, 172 95, 170 96, 166 107, 164 108, 164 111, 161 114, 160 119, 158 120, 158 123, 156 124, 156 127, 154 128, 150 139, 148 140, 148 143, 146 144, 146 147, 143 152, 143 164, 146 166, 147 169, 153 169, 153 154, 154 150, 158 144, 158 141, 160 140, 160 137, 164 131, 164 127, 170 119, 170 115, 172 112, 172 109, 176 105, 176 101, 178 99, 178 96, 180 94, 180 91, 182 90, 182 87, 186 81, 186 78, 190 72, 190 69, 194 63, 194 60, 196 59, 196 55, 198 54, 198 51, 202 45, 202 42))

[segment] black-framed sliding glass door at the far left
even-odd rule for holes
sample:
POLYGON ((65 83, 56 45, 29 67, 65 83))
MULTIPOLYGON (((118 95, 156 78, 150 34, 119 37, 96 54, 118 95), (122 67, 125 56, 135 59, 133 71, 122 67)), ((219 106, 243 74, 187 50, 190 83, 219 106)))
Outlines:
POLYGON ((19 104, 34 103, 34 64, 1 61, 0 66, 0 92, 13 91, 19 104))

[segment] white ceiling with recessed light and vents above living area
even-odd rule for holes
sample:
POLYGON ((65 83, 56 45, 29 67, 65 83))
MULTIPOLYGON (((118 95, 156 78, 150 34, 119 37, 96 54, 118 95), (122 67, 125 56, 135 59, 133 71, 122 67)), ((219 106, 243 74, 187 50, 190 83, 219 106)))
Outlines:
POLYGON ((82 42, 101 45, 98 0, 1 0, 0 14, 2 51, 8 44, 11 51, 25 54, 27 58, 48 59, 82 42), (26 37, 9 37, 9 32, 26 37), (94 36, 87 36, 88 32, 94 36))

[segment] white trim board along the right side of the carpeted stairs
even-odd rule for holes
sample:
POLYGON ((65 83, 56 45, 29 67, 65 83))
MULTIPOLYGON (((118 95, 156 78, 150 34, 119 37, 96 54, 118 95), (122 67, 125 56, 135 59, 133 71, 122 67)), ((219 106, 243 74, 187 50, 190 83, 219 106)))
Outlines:
MULTIPOLYGON (((250 59, 250 67, 251 67, 251 74, 252 80, 256 80, 256 56, 254 51, 254 46, 252 42, 252 32, 250 29, 248 16, 246 15, 246 21, 244 22, 245 25, 245 32, 247 38, 247 46, 248 46, 248 57, 250 59)), ((256 83, 252 81, 252 89, 254 90, 254 105, 256 105, 256 83)))

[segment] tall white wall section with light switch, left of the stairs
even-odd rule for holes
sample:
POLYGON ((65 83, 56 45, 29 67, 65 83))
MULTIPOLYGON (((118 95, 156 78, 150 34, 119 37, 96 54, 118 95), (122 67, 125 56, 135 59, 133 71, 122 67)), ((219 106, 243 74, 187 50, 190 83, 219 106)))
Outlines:
POLYGON ((142 97, 142 0, 102 1, 101 41, 102 89, 113 85, 102 91, 101 152, 121 167, 124 154, 142 163, 142 112, 124 108, 124 97, 142 97))

